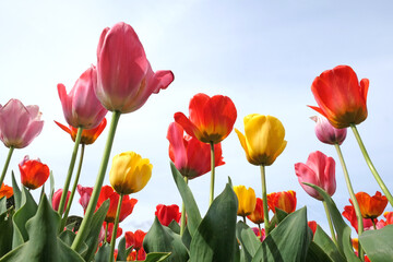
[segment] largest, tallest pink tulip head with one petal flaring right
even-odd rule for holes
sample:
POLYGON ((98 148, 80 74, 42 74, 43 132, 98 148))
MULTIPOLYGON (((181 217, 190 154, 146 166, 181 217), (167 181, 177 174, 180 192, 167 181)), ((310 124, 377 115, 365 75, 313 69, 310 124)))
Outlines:
POLYGON ((153 72, 133 28, 117 23, 105 28, 97 48, 96 94, 110 111, 131 112, 142 107, 152 93, 168 87, 171 71, 153 72))

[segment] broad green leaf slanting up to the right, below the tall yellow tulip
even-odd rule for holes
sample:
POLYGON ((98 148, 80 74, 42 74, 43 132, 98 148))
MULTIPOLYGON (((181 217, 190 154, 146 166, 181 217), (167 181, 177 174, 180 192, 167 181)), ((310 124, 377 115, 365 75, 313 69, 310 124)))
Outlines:
POLYGON ((307 209, 302 207, 278 224, 263 240, 252 262, 259 261, 306 261, 311 242, 307 225, 307 209))

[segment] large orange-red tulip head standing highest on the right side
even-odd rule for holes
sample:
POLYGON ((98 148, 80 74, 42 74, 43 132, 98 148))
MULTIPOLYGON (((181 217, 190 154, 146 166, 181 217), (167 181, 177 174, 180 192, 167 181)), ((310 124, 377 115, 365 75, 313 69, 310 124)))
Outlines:
POLYGON ((361 123, 367 118, 368 87, 369 80, 362 79, 359 84, 350 67, 335 67, 312 82, 311 91, 319 107, 310 107, 337 129, 361 123))

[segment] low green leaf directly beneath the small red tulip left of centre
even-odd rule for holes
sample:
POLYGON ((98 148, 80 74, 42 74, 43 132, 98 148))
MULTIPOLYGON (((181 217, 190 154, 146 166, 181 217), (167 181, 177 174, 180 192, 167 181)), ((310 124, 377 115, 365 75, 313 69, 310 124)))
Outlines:
POLYGON ((143 248, 146 253, 170 252, 168 261, 184 262, 189 259, 188 250, 180 236, 163 226, 157 217, 154 218, 154 223, 143 240, 143 248))

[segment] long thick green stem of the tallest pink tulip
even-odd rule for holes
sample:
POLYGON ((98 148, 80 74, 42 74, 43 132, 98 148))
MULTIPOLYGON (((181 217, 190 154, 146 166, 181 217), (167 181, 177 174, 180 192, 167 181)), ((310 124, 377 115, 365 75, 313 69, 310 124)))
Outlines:
POLYGON ((86 236, 86 234, 87 234, 86 230, 88 230, 88 227, 91 225, 93 214, 94 214, 95 207, 97 205, 98 195, 99 195, 100 189, 103 187, 105 172, 106 172, 106 169, 108 167, 110 150, 111 150, 111 146, 114 144, 116 128, 117 128, 117 124, 119 122, 120 115, 121 115, 121 112, 119 112, 119 111, 114 111, 112 112, 110 128, 109 128, 109 131, 108 131, 108 139, 107 139, 107 142, 105 144, 104 155, 103 155, 103 159, 102 159, 102 163, 100 163, 100 166, 99 166, 96 183, 94 186, 93 193, 92 193, 92 196, 90 199, 90 202, 88 202, 88 205, 87 205, 87 209, 86 209, 85 217, 83 218, 81 227, 80 227, 80 229, 79 229, 79 231, 76 234, 76 237, 75 237, 74 241, 72 242, 71 248, 73 250, 78 250, 81 247, 81 245, 83 243, 83 241, 85 240, 85 238, 87 237, 86 236))

